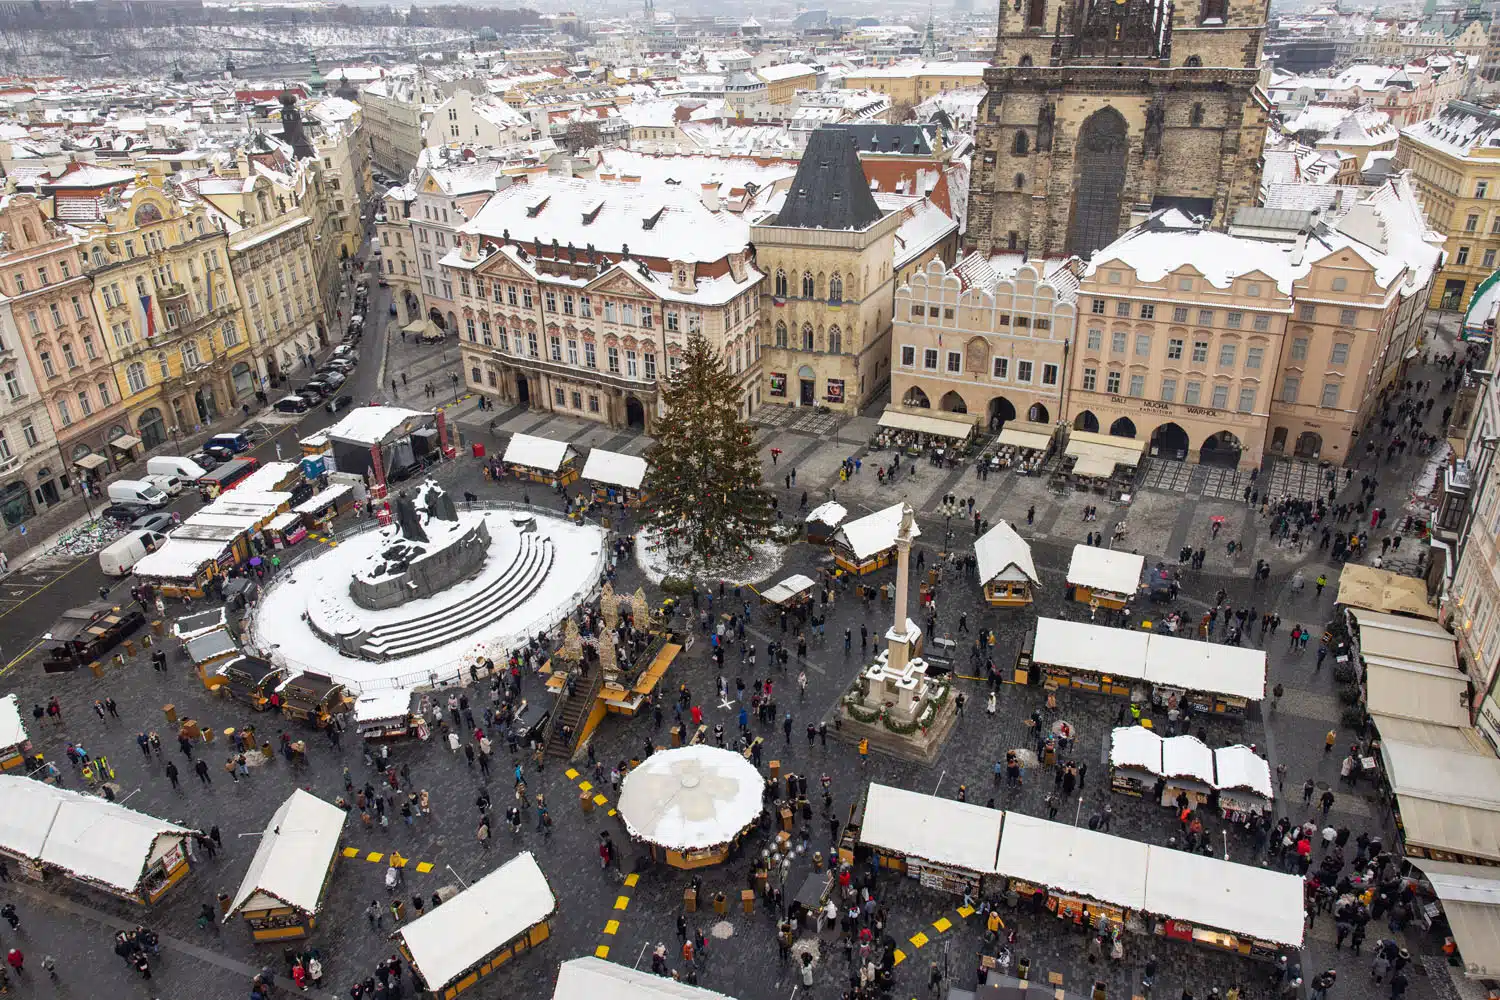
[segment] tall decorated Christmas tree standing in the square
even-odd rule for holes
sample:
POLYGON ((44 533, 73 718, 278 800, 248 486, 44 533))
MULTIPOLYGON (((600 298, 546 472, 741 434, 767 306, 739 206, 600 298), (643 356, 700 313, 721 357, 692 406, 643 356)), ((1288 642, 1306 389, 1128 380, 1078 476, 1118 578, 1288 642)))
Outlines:
POLYGON ((698 565, 748 561, 750 546, 771 537, 776 511, 734 376, 704 337, 688 337, 663 400, 646 454, 646 523, 698 565))

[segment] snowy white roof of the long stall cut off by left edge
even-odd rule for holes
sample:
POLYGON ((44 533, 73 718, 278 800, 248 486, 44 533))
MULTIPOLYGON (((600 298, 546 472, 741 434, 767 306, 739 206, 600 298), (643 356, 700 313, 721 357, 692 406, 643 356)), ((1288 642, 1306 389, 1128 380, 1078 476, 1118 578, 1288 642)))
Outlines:
POLYGON ((122 892, 140 888, 146 865, 160 853, 162 837, 194 832, 96 795, 20 775, 0 775, 0 846, 6 850, 122 892))

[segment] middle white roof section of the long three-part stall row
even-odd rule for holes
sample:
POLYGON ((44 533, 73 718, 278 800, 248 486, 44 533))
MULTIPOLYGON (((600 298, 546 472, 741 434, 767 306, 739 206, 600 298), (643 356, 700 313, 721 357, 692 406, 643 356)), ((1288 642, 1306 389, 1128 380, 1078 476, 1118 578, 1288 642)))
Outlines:
POLYGON ((1146 858, 1140 841, 1006 811, 994 867, 1010 879, 1140 910, 1146 858))

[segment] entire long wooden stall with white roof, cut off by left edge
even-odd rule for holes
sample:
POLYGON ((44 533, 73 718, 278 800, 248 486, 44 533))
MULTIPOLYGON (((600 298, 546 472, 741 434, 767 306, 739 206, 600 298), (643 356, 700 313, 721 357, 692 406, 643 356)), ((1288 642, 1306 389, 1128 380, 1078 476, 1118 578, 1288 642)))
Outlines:
POLYGON ((70 879, 130 903, 156 903, 188 876, 196 831, 98 795, 0 775, 0 858, 36 882, 70 879))

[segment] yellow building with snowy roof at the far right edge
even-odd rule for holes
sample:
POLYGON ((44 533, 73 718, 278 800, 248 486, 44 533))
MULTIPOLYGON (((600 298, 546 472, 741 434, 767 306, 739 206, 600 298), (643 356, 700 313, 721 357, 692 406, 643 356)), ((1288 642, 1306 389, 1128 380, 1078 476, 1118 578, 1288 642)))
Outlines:
POLYGON ((1464 309, 1500 255, 1500 112, 1462 100, 1401 130, 1396 163, 1412 171, 1432 228, 1448 237, 1434 309, 1464 309))

